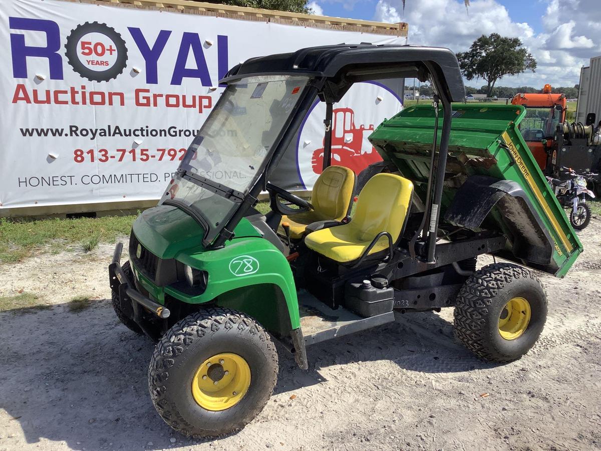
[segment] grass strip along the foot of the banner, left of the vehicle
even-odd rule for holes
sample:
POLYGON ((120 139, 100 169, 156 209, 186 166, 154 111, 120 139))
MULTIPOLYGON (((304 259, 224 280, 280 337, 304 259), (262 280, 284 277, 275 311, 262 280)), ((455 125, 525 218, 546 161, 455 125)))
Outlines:
POLYGON ((49 247, 47 250, 52 252, 64 250, 66 244, 81 243, 84 248, 90 245, 94 248, 99 242, 114 242, 118 236, 129 235, 136 217, 50 218, 38 221, 0 218, 0 262, 18 262, 44 247, 49 247))

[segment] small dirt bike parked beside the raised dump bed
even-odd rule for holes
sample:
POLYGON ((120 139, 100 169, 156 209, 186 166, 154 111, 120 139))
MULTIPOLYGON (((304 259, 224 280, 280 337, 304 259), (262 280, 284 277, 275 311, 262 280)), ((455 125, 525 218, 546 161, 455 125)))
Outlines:
POLYGON ((561 206, 572 208, 569 215, 572 227, 576 230, 582 230, 587 227, 591 220, 591 209, 587 204, 587 195, 594 199, 595 194, 587 188, 587 179, 584 176, 570 168, 562 168, 562 170, 566 171, 571 178, 559 180, 547 177, 547 180, 561 206))

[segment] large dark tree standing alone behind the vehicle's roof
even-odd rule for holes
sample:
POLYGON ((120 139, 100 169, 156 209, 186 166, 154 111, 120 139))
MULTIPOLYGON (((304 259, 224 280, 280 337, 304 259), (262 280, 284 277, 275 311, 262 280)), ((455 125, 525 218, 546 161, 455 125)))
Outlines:
POLYGON ((526 70, 535 72, 536 69, 536 60, 528 49, 522 47, 519 38, 504 37, 498 33, 481 35, 467 52, 457 54, 457 60, 466 79, 482 78, 487 82, 487 97, 490 97, 496 81, 504 75, 517 75, 526 70))

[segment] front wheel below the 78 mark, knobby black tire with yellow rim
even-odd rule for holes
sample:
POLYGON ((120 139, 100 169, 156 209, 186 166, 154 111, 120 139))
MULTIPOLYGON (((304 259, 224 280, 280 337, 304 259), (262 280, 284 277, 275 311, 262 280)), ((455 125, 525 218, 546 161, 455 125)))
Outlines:
POLYGON ((217 437, 242 429, 263 410, 277 376, 278 354, 260 324, 235 310, 207 308, 159 341, 148 388, 175 431, 217 437))

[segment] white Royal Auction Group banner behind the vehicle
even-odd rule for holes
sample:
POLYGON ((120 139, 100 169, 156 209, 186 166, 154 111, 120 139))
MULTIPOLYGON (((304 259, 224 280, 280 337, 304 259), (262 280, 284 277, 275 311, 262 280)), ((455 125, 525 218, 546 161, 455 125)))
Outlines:
MULTIPOLYGON (((0 209, 158 199, 230 67, 308 46, 405 41, 60 0, 3 0, 0 40, 0 209)), ((334 162, 357 170, 377 159, 369 130, 401 105, 377 84, 347 97, 335 105, 334 162)), ((294 143, 307 188, 322 109, 294 143)))

